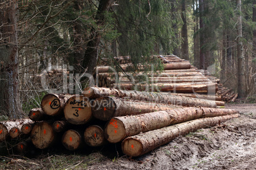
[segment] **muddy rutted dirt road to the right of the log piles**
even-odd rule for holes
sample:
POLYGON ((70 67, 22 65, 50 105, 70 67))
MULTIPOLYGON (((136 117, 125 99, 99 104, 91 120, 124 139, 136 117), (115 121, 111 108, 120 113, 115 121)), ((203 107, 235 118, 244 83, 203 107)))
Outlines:
POLYGON ((241 117, 180 136, 141 157, 106 158, 88 169, 256 169, 256 104, 225 108, 238 109, 241 117))

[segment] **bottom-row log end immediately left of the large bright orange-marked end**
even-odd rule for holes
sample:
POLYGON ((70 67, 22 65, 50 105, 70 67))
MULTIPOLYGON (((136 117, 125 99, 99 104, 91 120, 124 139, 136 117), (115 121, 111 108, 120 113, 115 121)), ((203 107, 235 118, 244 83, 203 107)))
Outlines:
POLYGON ((90 147, 100 147, 106 143, 104 131, 100 126, 97 125, 92 125, 86 128, 85 133, 83 133, 83 139, 90 147))

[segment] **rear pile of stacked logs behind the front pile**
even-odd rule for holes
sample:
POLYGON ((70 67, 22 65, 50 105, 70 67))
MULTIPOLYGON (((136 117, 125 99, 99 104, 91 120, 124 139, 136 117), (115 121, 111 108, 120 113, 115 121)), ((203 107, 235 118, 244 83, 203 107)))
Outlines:
MULTIPOLYGON (((122 72, 115 72, 115 69, 104 63, 104 66, 99 66, 96 69, 97 85, 127 90, 164 91, 178 93, 176 95, 180 96, 226 102, 234 101, 237 97, 237 94, 231 89, 224 88, 219 79, 210 75, 208 71, 198 70, 187 60, 174 55, 152 57, 161 60, 164 65, 163 72, 145 73, 143 72, 145 66, 137 65, 139 70, 134 73, 131 72, 134 68, 129 56, 116 57, 115 60, 120 63, 122 72)), ((224 105, 223 103, 219 104, 220 106, 224 105)))

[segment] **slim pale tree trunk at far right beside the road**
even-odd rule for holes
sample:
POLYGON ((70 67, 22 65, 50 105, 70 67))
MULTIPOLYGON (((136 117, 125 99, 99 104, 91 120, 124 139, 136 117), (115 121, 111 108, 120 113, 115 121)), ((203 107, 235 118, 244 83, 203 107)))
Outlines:
POLYGON ((237 37, 237 45, 238 45, 238 96, 245 96, 245 63, 243 56, 243 33, 242 33, 242 8, 241 8, 241 0, 237 0, 236 4, 238 5, 238 37, 237 37))

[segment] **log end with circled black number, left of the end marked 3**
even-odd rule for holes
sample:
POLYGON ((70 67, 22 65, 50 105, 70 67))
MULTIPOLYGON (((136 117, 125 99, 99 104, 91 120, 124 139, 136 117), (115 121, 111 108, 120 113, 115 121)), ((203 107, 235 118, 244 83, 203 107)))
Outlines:
POLYGON ((41 101, 41 108, 46 115, 58 115, 62 111, 60 106, 60 100, 58 96, 54 94, 48 94, 43 96, 41 101))

